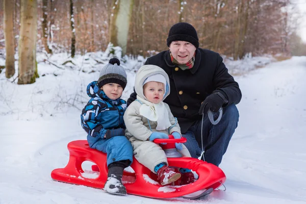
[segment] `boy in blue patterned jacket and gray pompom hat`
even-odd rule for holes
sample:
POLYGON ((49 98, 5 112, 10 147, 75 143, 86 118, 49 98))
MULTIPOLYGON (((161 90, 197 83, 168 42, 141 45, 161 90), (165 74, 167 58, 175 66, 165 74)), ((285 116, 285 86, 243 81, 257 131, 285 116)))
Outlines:
POLYGON ((89 147, 107 154, 108 179, 104 190, 118 195, 126 195, 121 181, 123 169, 133 161, 133 147, 124 136, 126 102, 120 99, 125 86, 124 68, 118 59, 110 59, 101 70, 98 81, 87 86, 91 99, 81 115, 89 147))

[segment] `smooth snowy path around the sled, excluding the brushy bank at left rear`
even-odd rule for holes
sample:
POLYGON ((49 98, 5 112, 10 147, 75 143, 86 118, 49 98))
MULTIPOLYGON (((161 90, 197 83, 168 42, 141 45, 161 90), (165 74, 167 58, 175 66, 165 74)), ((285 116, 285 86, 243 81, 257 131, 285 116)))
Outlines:
POLYGON ((240 121, 220 165, 227 191, 196 201, 113 196, 55 182, 50 172, 68 162, 67 143, 86 138, 80 112, 29 121, 1 115, 0 203, 306 203, 305 79, 306 57, 236 77, 240 121))

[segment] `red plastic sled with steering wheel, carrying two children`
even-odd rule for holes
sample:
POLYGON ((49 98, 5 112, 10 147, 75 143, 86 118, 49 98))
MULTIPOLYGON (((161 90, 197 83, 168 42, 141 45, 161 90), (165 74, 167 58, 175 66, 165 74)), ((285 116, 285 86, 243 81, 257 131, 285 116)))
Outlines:
MULTIPOLYGON (((173 138, 171 136, 169 135, 169 138, 173 138)), ((177 157, 180 154, 175 150, 175 143, 186 142, 186 138, 155 139, 154 142, 167 143, 165 145, 161 144, 161 146, 166 152, 169 166, 192 169, 197 173, 198 179, 192 184, 183 186, 162 186, 158 183, 156 174, 133 158, 131 167, 135 172, 124 171, 122 176, 122 182, 128 194, 153 198, 184 197, 195 199, 211 193, 213 189, 218 188, 225 182, 226 176, 219 167, 194 158, 177 157), (129 179, 124 181, 127 178, 129 179)), ((52 179, 103 189, 108 172, 106 154, 90 148, 86 140, 69 142, 68 150, 70 157, 67 166, 54 169, 51 173, 52 179), (84 170, 81 165, 84 161, 96 164, 92 165, 92 170, 98 173, 95 179, 82 175, 84 170)))

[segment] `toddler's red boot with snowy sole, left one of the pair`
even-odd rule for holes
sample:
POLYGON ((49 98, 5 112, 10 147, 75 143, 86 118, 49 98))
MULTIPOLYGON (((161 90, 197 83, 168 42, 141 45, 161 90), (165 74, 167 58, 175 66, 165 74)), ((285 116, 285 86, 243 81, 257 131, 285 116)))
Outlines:
POLYGON ((163 166, 157 171, 158 179, 160 181, 160 184, 162 186, 165 186, 167 184, 171 184, 172 182, 175 182, 176 180, 179 180, 181 177, 181 173, 175 172, 173 168, 169 168, 168 166, 163 166))

